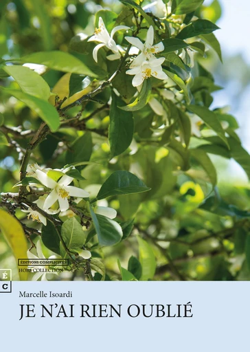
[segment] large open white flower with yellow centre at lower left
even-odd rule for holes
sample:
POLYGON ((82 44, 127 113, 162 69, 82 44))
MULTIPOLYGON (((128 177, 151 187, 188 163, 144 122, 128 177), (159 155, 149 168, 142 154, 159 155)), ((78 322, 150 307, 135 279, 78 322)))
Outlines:
POLYGON ((43 209, 46 212, 56 201, 59 203, 60 211, 64 212, 69 209, 68 197, 89 197, 89 193, 82 190, 82 188, 69 186, 73 181, 73 177, 64 175, 59 181, 54 181, 54 179, 46 175, 46 173, 43 173, 41 170, 36 170, 36 177, 44 186, 52 189, 52 192, 50 192, 45 199, 43 206, 43 209))

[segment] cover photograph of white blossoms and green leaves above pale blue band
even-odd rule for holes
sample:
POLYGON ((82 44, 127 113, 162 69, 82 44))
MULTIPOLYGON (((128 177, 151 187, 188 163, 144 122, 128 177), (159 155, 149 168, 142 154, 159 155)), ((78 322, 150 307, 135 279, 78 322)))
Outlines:
POLYGON ((240 2, 1 0, 1 292, 250 280, 240 2))

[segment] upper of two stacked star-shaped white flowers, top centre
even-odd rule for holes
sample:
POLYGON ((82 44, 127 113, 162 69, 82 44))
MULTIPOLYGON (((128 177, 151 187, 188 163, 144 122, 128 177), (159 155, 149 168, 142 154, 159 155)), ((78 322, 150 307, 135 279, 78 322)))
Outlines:
POLYGON ((155 54, 159 54, 159 52, 162 52, 164 50, 164 45, 162 41, 158 44, 153 45, 154 28, 152 28, 152 25, 150 25, 150 28, 148 28, 145 43, 142 43, 139 38, 134 38, 133 36, 125 36, 125 39, 126 41, 128 41, 128 43, 134 45, 139 50, 141 50, 141 54, 139 54, 139 56, 137 56, 137 58, 135 58, 135 60, 133 61, 133 67, 140 65, 140 63, 145 61, 146 59, 150 60, 150 58, 155 58, 155 54))

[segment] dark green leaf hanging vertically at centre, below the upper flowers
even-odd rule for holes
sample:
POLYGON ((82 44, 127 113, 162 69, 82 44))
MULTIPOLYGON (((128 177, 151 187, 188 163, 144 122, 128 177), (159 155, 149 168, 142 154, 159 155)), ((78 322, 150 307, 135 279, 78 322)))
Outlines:
POLYGON ((130 111, 121 111, 118 105, 122 99, 112 92, 111 109, 109 113, 109 144, 111 158, 122 154, 130 146, 134 133, 134 118, 130 111))

